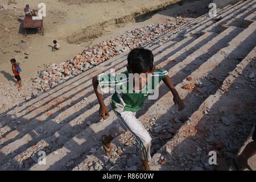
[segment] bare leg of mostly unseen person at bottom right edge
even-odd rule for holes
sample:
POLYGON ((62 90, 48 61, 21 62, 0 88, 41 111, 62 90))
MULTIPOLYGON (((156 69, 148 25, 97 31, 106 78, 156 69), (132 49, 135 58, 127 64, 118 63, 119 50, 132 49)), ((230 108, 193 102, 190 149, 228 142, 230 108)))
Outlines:
POLYGON ((237 156, 236 163, 238 168, 247 167, 247 160, 256 154, 256 142, 250 142, 247 144, 242 154, 237 156))

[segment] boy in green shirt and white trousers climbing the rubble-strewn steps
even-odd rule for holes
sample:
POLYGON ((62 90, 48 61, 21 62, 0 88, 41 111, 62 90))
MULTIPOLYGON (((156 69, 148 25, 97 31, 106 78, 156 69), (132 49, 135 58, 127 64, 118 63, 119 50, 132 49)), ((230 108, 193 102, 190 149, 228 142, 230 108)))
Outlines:
MULTIPOLYGON (((126 75, 126 79, 118 81, 118 79, 115 79, 118 77, 118 75, 114 78, 114 84, 119 86, 121 85, 122 90, 125 92, 118 93, 115 89, 115 93, 112 96, 112 108, 117 117, 121 119, 121 122, 113 126, 109 130, 110 135, 102 136, 101 140, 105 154, 109 156, 112 149, 112 140, 118 135, 130 130, 141 146, 142 170, 149 171, 150 167, 148 165, 148 161, 151 160, 151 137, 142 125, 141 121, 135 117, 136 112, 141 109, 144 101, 148 97, 148 94, 154 92, 154 89, 162 80, 171 90, 174 96, 174 102, 179 106, 179 110, 183 110, 185 106, 179 97, 171 78, 168 76, 168 72, 163 69, 155 68, 154 55, 150 50, 135 48, 129 53, 127 60, 127 71, 121 73, 126 75), (140 77, 132 77, 133 79, 130 79, 130 76, 135 73, 137 73, 140 77), (141 77, 141 75, 146 76, 141 77), (146 94, 144 89, 146 89, 146 94)), ((103 75, 100 75, 98 77, 93 77, 92 80, 94 92, 96 93, 100 103, 99 113, 103 119, 106 119, 109 116, 109 111, 104 104, 101 89, 104 87, 109 87, 111 84, 113 84, 113 81, 110 81, 113 79, 110 79, 110 77, 112 76, 108 75, 107 77, 103 77, 103 75), (98 90, 99 85, 100 90, 98 90)))

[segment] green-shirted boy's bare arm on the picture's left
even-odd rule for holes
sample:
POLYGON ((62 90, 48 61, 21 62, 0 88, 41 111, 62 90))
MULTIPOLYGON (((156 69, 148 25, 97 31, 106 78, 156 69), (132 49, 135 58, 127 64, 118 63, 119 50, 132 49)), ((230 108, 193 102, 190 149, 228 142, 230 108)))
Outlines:
POLYGON ((105 120, 107 117, 109 117, 109 111, 108 111, 108 107, 106 107, 104 103, 101 93, 98 92, 98 77, 97 76, 93 77, 92 82, 93 82, 94 92, 100 104, 100 110, 98 112, 100 113, 101 117, 105 120))

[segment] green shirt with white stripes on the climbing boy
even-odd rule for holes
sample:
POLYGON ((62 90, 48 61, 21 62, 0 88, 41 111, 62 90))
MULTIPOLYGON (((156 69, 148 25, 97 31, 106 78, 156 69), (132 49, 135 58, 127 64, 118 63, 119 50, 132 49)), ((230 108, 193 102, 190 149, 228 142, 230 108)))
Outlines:
MULTIPOLYGON (((151 74, 150 80, 142 90, 134 90, 133 74, 123 72, 116 76, 101 74, 98 77, 101 90, 105 88, 113 88, 112 107, 115 111, 136 112, 143 106, 144 101, 149 94, 153 94, 156 86, 168 75, 164 69, 155 69, 151 74)), ((141 76, 141 75, 140 75, 141 76)), ((146 76, 146 75, 145 75, 146 76)))

